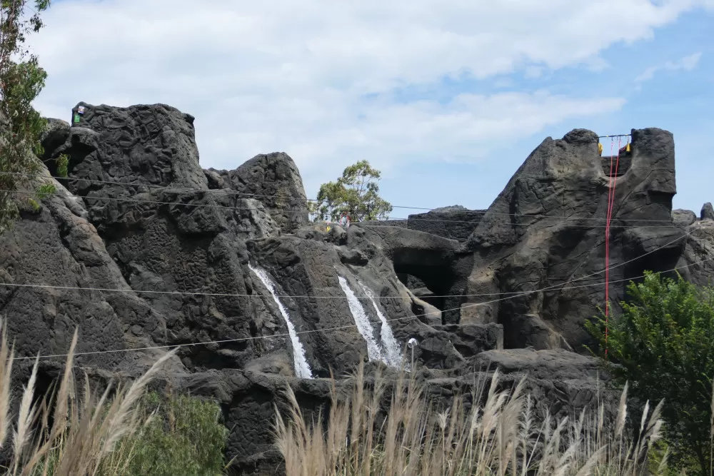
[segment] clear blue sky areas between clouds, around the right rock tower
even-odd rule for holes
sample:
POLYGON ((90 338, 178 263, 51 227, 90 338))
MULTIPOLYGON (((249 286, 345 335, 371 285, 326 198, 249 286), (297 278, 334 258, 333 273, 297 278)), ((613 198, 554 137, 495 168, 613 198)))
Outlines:
MULTIPOLYGON (((620 23, 625 24, 625 19, 620 23)), ((600 24, 613 27, 608 22, 600 24)), ((672 132, 675 138, 678 193, 673 205, 698 214, 703 203, 714 201, 714 145, 707 142, 714 136, 714 16, 703 11, 683 14, 656 30, 653 38, 615 44, 604 50, 602 57, 607 66, 599 71, 572 67, 544 71, 535 78, 519 71, 481 81, 445 78, 428 86, 395 88, 391 91, 393 100, 403 102, 423 98, 448 102, 464 91, 493 93, 503 88, 617 96, 626 102, 618 111, 568 119, 516 141, 499 139, 501 151, 483 161, 413 163, 391 171, 381 183, 386 198, 395 204, 429 207, 436 202, 486 208, 547 136, 560 138, 573 128, 605 135, 658 127, 672 132), (697 54, 698 61, 690 70, 667 68, 697 54), (651 79, 639 78, 655 68, 651 79), (438 191, 439 197, 435 200, 431 193, 423 194, 424 190, 438 191)), ((606 139, 603 146, 605 151, 610 147, 606 139)))

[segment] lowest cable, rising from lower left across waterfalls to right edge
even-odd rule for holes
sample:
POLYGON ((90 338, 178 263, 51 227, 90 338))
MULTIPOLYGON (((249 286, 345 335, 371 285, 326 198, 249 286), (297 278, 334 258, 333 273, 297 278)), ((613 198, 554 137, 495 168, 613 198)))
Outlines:
MULTIPOLYGON (((678 268, 673 268, 670 270, 662 271, 662 273, 670 273, 672 271, 680 270, 683 268, 689 268, 690 266, 705 263, 706 261, 711 261, 714 260, 714 256, 712 258, 707 258, 705 260, 698 261, 696 263, 690 263, 688 265, 683 265, 679 266, 678 268)), ((644 278, 644 275, 637 276, 635 278, 628 278, 628 279, 623 279, 623 280, 618 280, 618 281, 613 281, 613 283, 616 282, 621 282, 621 281, 629 281, 633 279, 638 279, 638 278, 644 278)), ((578 286, 571 286, 571 288, 587 288, 590 286, 597 286, 597 285, 602 285, 603 283, 590 283, 590 284, 583 284, 583 285, 578 285, 578 286)), ((533 294, 533 293, 540 293, 543 290, 548 289, 548 288, 543 288, 543 289, 537 289, 537 290, 532 290, 532 291, 526 291, 524 293, 521 293, 521 295, 528 295, 528 294, 533 294)), ((266 296, 267 297, 267 296, 266 296)), ((478 305, 487 305, 487 304, 493 304, 493 303, 498 303, 500 301, 504 300, 509 300, 516 298, 518 296, 511 296, 508 298, 500 298, 500 299, 494 299, 490 301, 486 301, 484 303, 471 303, 467 305, 462 305, 458 308, 451 308, 451 309, 444 309, 441 310, 442 313, 446 313, 451 310, 460 310, 463 308, 471 308, 471 307, 476 307, 478 305)), ((404 318, 392 318, 392 319, 386 319, 386 322, 395 322, 397 320, 407 320, 407 319, 414 319, 414 318, 420 318, 426 315, 430 315, 431 313, 422 313, 422 314, 415 314, 415 315, 409 315, 404 318)), ((370 323, 376 324, 376 323, 382 323, 382 320, 378 321, 373 321, 370 320, 370 323)), ((329 330, 343 330, 343 329, 352 329, 356 328, 356 324, 350 324, 350 325, 339 325, 336 327, 332 328, 322 328, 322 329, 311 329, 311 330, 301 330, 296 332, 297 335, 303 335, 303 334, 312 334, 312 333, 318 333, 318 332, 326 332, 329 330)), ((259 340, 259 339, 272 339, 272 338, 282 338, 282 337, 290 337, 289 333, 281 333, 281 334, 273 334, 273 335, 256 335, 253 337, 245 337, 245 338, 234 338, 234 339, 223 339, 223 340, 208 340, 208 341, 203 341, 203 342, 196 342, 196 343, 187 343, 187 344, 173 344, 173 345, 152 345, 149 347, 141 347, 141 348, 131 348, 131 349, 114 349, 114 350, 95 350, 93 352, 81 352, 81 353, 74 353, 75 357, 81 357, 84 355, 97 355, 97 354, 109 354, 109 353, 126 353, 126 352, 138 352, 140 350, 159 350, 159 349, 169 349, 169 348, 180 348, 180 347, 193 347, 194 345, 211 345, 211 344, 224 344, 224 343, 231 343, 231 342, 245 342, 248 340, 259 340)), ((35 358, 58 358, 58 357, 69 357, 69 354, 52 354, 52 355, 36 355, 35 357, 14 357, 12 360, 30 360, 30 359, 35 359, 35 358)))

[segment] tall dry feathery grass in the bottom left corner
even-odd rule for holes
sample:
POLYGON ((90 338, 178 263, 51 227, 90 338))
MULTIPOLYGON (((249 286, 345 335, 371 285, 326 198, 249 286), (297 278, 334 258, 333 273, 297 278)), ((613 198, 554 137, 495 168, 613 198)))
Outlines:
POLYGON ((107 386, 93 393, 84 375, 79 397, 73 375, 77 332, 56 391, 35 398, 39 356, 24 387, 17 415, 11 415, 11 373, 14 346, 9 348, 6 328, 0 340, 0 448, 11 461, 0 468, 4 476, 121 475, 131 459, 131 439, 124 436, 146 423, 139 418, 139 400, 146 385, 174 352, 166 353, 130 385, 107 386), (110 397, 111 396, 111 397, 110 397), (12 436, 10 437, 10 433, 12 436), (9 445, 9 447, 8 447, 9 445), (121 457, 116 457, 116 455, 121 457))

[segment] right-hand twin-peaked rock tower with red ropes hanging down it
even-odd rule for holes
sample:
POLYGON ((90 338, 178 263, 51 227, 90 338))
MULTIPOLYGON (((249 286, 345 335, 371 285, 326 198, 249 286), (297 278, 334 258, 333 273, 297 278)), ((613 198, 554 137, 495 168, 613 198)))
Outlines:
MULTIPOLYGON (((675 266, 685 241, 671 214, 676 192, 672 134, 633 130, 631 163, 616 183, 603 173, 597 144, 597 134, 583 129, 560 140, 546 138, 488 208, 466 243, 475 260, 464 294, 526 294, 468 308, 465 303, 462 322, 503 324, 506 348, 592 345, 583 322, 604 304, 604 288, 576 285, 603 279, 611 186, 615 312, 628 278, 675 266), (549 290, 528 293, 534 288, 549 290)), ((467 298, 468 303, 479 300, 467 298)))

